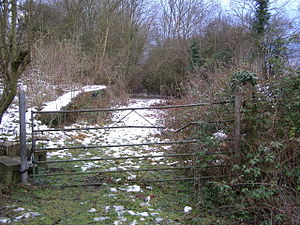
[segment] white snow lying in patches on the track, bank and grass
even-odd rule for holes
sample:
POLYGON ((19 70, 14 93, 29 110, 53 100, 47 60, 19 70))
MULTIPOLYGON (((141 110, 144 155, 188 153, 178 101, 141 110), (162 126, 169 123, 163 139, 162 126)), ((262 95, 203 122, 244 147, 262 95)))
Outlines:
MULTIPOLYGON (((78 95, 81 91, 95 91, 95 90, 101 90, 105 88, 104 86, 86 86, 78 91, 73 91, 65 93, 60 98, 58 98, 56 101, 52 101, 46 104, 46 106, 42 109, 43 111, 54 111, 59 110, 62 107, 66 106, 72 98, 74 98, 76 95, 78 95)), ((128 102, 128 105, 126 107, 130 108, 139 108, 139 107, 149 107, 153 104, 161 103, 163 100, 161 99, 131 99, 128 102)), ((125 106, 121 106, 125 107, 125 106)), ((17 112, 17 108, 15 108, 17 112)), ((30 115, 30 111, 33 109, 28 110, 28 115, 30 115)), ((162 121, 160 120, 159 114, 161 113, 160 110, 136 110, 136 111, 115 111, 112 113, 112 122, 106 126, 162 126, 162 121)), ((17 120, 16 116, 12 116, 17 120)), ((27 117, 29 119, 29 116, 27 117)), ((10 119, 12 121, 12 119, 10 119)), ((46 126, 42 126, 40 124, 39 128, 46 128, 46 126)), ((29 120, 28 120, 28 126, 29 126, 29 120)), ((73 127, 82 127, 86 126, 86 124, 80 123, 80 124, 73 124, 71 126, 65 127, 65 128, 73 128, 73 127)), ((97 125, 95 125, 97 126, 97 125)), ((70 143, 76 141, 76 145, 122 145, 122 144, 135 144, 135 143, 145 143, 145 142, 158 142, 161 141, 157 135, 160 134, 159 129, 126 129, 126 128, 118 128, 118 129, 110 129, 110 130, 89 130, 89 131, 72 131, 72 132, 44 132, 44 135, 49 139, 47 143, 45 143, 46 147, 61 147, 66 146, 66 143, 70 143), (72 139, 72 136, 78 136, 80 135, 83 138, 74 138, 72 139)), ((82 158, 99 158, 99 151, 101 151, 101 157, 102 156, 114 156, 114 157, 122 157, 122 156, 141 156, 141 155, 152 155, 152 156, 162 156, 157 157, 153 159, 149 159, 154 164, 168 164, 168 161, 165 160, 163 157, 163 152, 169 150, 169 146, 162 146, 161 149, 158 149, 160 152, 157 152, 156 148, 153 148, 152 146, 142 146, 139 148, 134 147, 117 147, 117 148, 101 148, 97 149, 96 151, 90 151, 90 150, 84 150, 80 154, 76 155, 76 159, 82 159, 82 158), (98 151, 98 152, 97 152, 98 151), (163 161, 162 161, 163 160, 163 161)), ((55 157, 61 158, 61 159, 67 159, 67 158, 74 158, 72 153, 68 151, 67 149, 59 150, 59 151, 52 151, 47 153, 48 158, 55 157)), ((124 160, 121 161, 118 164, 113 164, 113 161, 93 161, 93 162, 77 162, 74 167, 80 168, 81 171, 88 171, 89 169, 94 168, 106 168, 107 170, 115 171, 115 170, 125 170, 125 169, 137 169, 140 168, 141 165, 143 165, 143 161, 133 161, 133 160, 124 160), (104 166, 104 167, 103 167, 104 166)), ((169 165, 169 164, 168 164, 169 165)), ((77 170, 78 170, 77 169, 77 170)), ((106 170, 105 169, 105 170, 106 170)), ((128 180, 134 180, 137 178, 136 174, 133 173, 127 173, 126 177, 128 180)), ((117 179, 117 180, 120 180, 117 179)), ((124 179, 126 180, 126 178, 124 179)), ((103 184, 105 186, 106 184, 103 184)), ((112 198, 118 198, 120 193, 126 194, 132 193, 132 201, 136 201, 136 204, 140 209, 142 210, 136 210, 134 211, 132 208, 131 210, 126 209, 122 205, 115 205, 115 206, 103 206, 102 210, 103 213, 108 213, 109 211, 114 211, 118 215, 118 217, 115 219, 114 222, 110 222, 110 224, 124 224, 124 221, 127 221, 127 218, 125 215, 128 216, 137 216, 141 218, 136 218, 136 220, 127 221, 126 224, 139 224, 141 222, 138 221, 145 221, 145 218, 151 216, 151 220, 155 223, 160 223, 164 220, 164 218, 161 218, 159 215, 160 209, 150 209, 148 208, 150 206, 151 201, 151 195, 145 194, 143 199, 143 203, 139 203, 136 199, 137 197, 134 195, 137 195, 135 193, 144 192, 147 193, 151 190, 153 190, 152 187, 146 186, 145 190, 142 190, 141 186, 139 185, 129 185, 125 184, 123 187, 109 187, 108 189, 113 194, 108 194, 107 196, 112 198), (104 209, 104 210, 103 210, 104 209), (138 212, 140 211, 140 212, 138 212), (151 212, 151 213, 150 213, 151 212), (155 218, 156 217, 156 218, 155 218)), ((87 202, 81 202, 80 204, 86 204, 87 202)), ((119 203, 120 204, 120 203, 119 203)), ((121 203, 122 204, 122 203, 121 203)), ((189 212, 192 210, 191 207, 187 208, 189 206, 186 206, 184 208, 184 212, 189 212)), ((154 208, 152 206, 152 208, 154 208)), ((17 209, 15 209, 17 210, 17 209)), ((110 219, 110 217, 107 217, 105 215, 99 215, 99 217, 95 217, 97 209, 90 208, 86 209, 88 213, 95 213, 94 216, 91 218, 95 222, 101 222, 110 219)), ((20 210, 22 211, 22 210, 20 210)), ((99 211, 99 212, 100 212, 99 211)), ((32 212, 26 212, 23 215, 19 216, 18 218, 29 218, 29 217, 37 216, 37 214, 34 214, 32 212)), ((0 218, 1 219, 6 218, 0 218)))

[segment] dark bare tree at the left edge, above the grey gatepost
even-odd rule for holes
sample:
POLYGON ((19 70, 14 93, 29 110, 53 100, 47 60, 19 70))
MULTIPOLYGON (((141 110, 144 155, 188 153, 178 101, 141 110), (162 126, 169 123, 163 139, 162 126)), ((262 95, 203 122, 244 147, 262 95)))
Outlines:
MULTIPOLYGON (((24 23, 30 24, 32 0, 26 1, 25 6, 28 10, 24 23)), ((17 82, 30 63, 30 26, 27 27, 27 37, 23 37, 22 24, 18 22, 21 21, 18 17, 22 15, 18 14, 18 9, 17 0, 3 0, 0 3, 0 75, 4 85, 0 95, 0 124, 17 93, 17 82)))

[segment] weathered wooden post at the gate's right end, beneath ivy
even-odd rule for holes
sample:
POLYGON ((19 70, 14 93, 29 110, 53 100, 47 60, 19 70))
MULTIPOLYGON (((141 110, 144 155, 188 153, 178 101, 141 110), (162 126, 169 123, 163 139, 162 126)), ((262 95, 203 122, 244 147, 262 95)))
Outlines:
POLYGON ((241 88, 238 88, 235 93, 234 101, 234 154, 237 163, 241 162, 241 107, 242 107, 242 93, 241 88))

